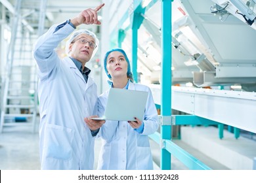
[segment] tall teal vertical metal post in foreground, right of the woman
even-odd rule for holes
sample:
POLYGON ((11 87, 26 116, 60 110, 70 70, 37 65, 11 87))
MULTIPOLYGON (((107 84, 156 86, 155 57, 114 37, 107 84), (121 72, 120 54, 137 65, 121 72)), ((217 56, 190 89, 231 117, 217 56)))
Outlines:
MULTIPOLYGON (((165 119, 171 119, 171 0, 162 0, 161 13, 161 116, 165 124, 165 119)), ((161 139, 171 140, 171 124, 161 125, 161 139)), ((165 148, 161 148, 161 169, 171 169, 171 154, 165 148)))

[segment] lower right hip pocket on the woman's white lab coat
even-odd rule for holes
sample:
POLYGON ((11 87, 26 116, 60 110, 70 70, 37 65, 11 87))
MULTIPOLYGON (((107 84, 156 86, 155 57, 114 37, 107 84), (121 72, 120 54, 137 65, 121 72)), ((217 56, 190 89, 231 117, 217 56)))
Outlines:
POLYGON ((137 146, 137 169, 150 170, 153 169, 153 159, 150 147, 137 146))

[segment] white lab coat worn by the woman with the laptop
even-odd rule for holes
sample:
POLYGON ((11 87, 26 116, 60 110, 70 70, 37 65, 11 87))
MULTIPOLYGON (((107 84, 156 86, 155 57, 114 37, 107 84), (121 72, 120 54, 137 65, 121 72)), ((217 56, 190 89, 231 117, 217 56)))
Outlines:
MULTIPOLYGON (((98 169, 153 169, 148 135, 157 131, 159 123, 152 93, 147 86, 132 82, 129 82, 128 90, 149 93, 144 118, 140 119, 144 122, 144 130, 140 134, 126 121, 106 121, 98 133, 102 138, 98 169)), ((109 90, 98 97, 99 116, 104 114, 108 93, 109 90)))

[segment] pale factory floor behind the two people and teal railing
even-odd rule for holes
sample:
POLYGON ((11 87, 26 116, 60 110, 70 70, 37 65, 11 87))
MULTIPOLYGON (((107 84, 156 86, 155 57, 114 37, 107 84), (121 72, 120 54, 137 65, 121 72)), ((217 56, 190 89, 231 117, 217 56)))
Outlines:
MULTIPOLYGON (((218 163, 214 159, 205 156, 198 152, 192 146, 186 144, 181 140, 173 140, 176 144, 181 146, 187 152, 193 154, 196 158, 200 159, 205 165, 211 169, 228 169, 228 167, 218 163)), ((95 169, 100 150, 100 139, 95 141, 95 169)), ((154 169, 160 169, 160 155, 161 149, 159 144, 150 140, 152 155, 154 159, 154 169)), ((36 131, 32 132, 30 125, 15 125, 3 128, 3 133, 0 134, 0 169, 2 170, 38 170, 40 169, 39 162, 39 135, 36 131)), ((188 169, 184 164, 171 157, 171 169, 173 170, 186 170, 188 169)))

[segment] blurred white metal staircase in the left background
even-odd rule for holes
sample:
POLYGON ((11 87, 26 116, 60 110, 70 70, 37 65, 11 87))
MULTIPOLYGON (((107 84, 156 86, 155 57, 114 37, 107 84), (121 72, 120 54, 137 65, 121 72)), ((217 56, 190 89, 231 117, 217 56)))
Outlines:
POLYGON ((32 132, 37 127, 37 75, 32 48, 38 36, 32 27, 28 29, 26 16, 21 16, 22 13, 22 1, 18 0, 11 26, 7 69, 1 85, 0 133, 8 125, 32 125, 32 132))

